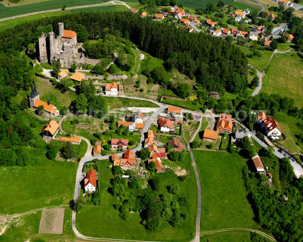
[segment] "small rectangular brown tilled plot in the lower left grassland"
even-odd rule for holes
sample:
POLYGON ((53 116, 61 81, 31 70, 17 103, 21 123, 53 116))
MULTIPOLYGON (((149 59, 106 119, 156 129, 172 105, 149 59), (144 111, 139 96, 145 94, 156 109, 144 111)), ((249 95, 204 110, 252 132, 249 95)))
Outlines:
POLYGON ((65 208, 44 209, 42 211, 39 234, 62 234, 65 208))

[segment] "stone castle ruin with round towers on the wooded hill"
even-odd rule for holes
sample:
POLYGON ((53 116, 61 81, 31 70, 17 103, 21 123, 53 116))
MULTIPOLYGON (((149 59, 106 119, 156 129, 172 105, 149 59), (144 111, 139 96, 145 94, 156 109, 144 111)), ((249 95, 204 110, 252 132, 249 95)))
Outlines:
POLYGON ((74 62, 96 65, 100 61, 85 57, 82 44, 77 42, 76 32, 65 30, 63 23, 58 23, 58 27, 59 32, 56 38, 52 31, 48 33, 48 36, 42 33, 38 39, 37 53, 40 62, 52 63, 53 58, 58 58, 62 67, 70 67, 74 62))

